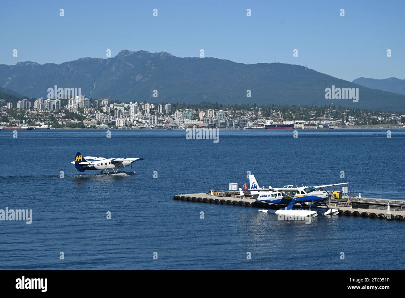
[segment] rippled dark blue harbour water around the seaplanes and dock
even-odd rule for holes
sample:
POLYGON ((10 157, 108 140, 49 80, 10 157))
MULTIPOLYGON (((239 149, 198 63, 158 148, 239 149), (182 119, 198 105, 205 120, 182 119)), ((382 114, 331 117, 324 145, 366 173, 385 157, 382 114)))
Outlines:
POLYGON ((214 143, 188 140, 184 130, 111 130, 111 138, 1 131, 0 209, 32 209, 32 224, 0 221, 1 269, 403 269, 405 221, 319 216, 305 224, 172 199, 242 185, 247 171, 260 186, 350 182, 364 197, 404 199, 405 130, 392 138, 384 129, 292 134, 221 130, 214 143), (77 151, 145 160, 133 176, 83 175, 70 164, 77 151))

